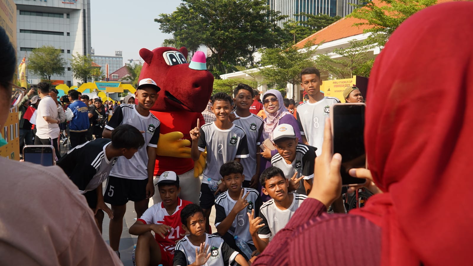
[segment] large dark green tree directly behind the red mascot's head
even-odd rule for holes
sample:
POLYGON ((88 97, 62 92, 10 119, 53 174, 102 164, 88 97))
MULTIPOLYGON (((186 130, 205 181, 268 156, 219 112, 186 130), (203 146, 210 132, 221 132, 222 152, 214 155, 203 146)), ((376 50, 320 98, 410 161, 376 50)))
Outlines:
POLYGON ((212 53, 209 70, 218 76, 234 66, 253 66, 253 53, 280 44, 282 19, 266 0, 183 0, 171 14, 155 19, 165 33, 173 34, 176 47, 195 52, 205 45, 212 53))

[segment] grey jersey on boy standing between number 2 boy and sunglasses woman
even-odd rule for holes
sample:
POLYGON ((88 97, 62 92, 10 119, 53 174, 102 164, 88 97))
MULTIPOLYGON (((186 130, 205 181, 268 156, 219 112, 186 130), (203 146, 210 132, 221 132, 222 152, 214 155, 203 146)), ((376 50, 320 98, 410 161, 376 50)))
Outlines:
POLYGON ((263 119, 258 115, 251 114, 246 117, 241 117, 235 114, 236 119, 233 121, 233 124, 236 124, 243 128, 246 133, 246 140, 248 141, 248 154, 246 158, 242 158, 240 163, 243 165, 243 174, 245 175, 245 180, 251 180, 251 177, 256 173, 256 148, 261 144, 260 137, 263 133, 263 119))

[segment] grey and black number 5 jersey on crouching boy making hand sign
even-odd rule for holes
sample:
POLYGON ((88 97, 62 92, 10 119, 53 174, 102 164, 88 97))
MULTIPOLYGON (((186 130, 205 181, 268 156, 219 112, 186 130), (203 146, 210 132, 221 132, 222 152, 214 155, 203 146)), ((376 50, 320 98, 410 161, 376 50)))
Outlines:
MULTIPOLYGON (((232 223, 232 226, 228 230, 233 236, 238 236, 238 238, 245 240, 246 243, 253 245, 253 239, 250 234, 250 224, 248 220, 248 215, 251 214, 251 210, 254 209, 254 217, 259 216, 259 210, 261 207, 261 198, 260 193, 254 188, 244 188, 245 192, 243 195, 249 192, 246 200, 248 201, 248 206, 241 210, 235 217, 235 220, 232 223)), ((217 227, 220 222, 227 218, 228 214, 232 211, 233 206, 235 206, 236 200, 233 200, 230 195, 228 195, 228 190, 223 194, 220 194, 215 201, 215 226, 217 227)))

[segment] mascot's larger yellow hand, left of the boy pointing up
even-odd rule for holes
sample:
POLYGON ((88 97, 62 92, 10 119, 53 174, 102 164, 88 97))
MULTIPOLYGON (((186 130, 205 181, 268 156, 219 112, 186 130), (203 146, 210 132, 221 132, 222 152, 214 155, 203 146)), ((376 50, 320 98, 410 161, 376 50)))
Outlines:
POLYGON ((182 140, 184 134, 180 132, 170 132, 167 134, 159 134, 158 148, 156 154, 159 156, 191 158, 191 142, 182 140))

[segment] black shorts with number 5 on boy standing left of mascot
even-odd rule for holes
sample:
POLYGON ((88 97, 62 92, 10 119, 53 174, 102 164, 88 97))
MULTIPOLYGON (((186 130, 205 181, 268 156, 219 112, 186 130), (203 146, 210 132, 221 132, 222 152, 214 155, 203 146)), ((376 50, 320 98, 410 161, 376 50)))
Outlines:
POLYGON ((127 179, 109 176, 105 187, 104 201, 120 206, 129 200, 137 202, 146 199, 147 179, 127 179))

